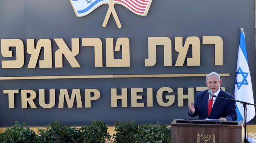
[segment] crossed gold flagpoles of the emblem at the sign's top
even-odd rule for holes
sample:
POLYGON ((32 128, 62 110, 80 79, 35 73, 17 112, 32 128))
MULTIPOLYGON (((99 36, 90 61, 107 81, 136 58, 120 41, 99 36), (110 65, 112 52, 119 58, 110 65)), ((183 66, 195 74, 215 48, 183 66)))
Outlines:
POLYGON ((115 19, 115 23, 117 23, 117 27, 118 28, 122 27, 122 25, 121 25, 121 23, 119 21, 119 18, 117 16, 117 13, 115 11, 114 5, 115 5, 115 3, 113 2, 113 0, 109 0, 109 2, 108 2, 108 11, 106 13, 105 19, 104 19, 103 24, 102 24, 103 27, 106 27, 111 13, 112 13, 112 15, 113 15, 113 17, 115 19))

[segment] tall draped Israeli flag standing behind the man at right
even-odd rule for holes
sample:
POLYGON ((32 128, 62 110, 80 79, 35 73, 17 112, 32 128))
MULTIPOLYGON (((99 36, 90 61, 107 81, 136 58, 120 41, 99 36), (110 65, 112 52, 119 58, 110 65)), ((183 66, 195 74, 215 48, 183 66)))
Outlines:
MULTIPOLYGON (((245 33, 240 32, 240 41, 236 66, 236 82, 234 95, 236 100, 245 101, 254 104, 252 93, 252 80, 250 76, 247 50, 245 44, 245 33)), ((244 120, 243 105, 236 102, 237 120, 244 120)), ((255 116, 255 108, 253 105, 247 105, 247 122, 252 120, 255 116)))

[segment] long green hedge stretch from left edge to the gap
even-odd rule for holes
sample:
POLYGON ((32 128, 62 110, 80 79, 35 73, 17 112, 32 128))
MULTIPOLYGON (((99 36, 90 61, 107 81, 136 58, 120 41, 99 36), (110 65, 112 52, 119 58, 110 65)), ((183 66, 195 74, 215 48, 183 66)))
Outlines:
POLYGON ((110 138, 107 126, 102 121, 93 121, 91 126, 75 128, 54 121, 46 129, 39 129, 38 135, 25 123, 7 128, 0 134, 0 143, 105 143, 110 138))

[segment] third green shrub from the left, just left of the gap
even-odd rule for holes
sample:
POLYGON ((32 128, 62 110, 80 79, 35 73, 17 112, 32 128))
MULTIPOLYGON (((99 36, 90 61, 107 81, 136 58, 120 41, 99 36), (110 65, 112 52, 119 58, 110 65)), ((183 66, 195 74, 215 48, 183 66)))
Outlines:
POLYGON ((93 121, 91 126, 80 128, 82 138, 86 143, 105 143, 107 139, 110 139, 107 129, 108 127, 102 121, 93 121))

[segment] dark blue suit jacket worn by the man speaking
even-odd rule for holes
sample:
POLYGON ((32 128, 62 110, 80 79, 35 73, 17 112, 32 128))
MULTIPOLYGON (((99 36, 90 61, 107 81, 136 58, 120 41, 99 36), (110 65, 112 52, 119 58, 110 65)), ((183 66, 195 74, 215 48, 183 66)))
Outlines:
POLYGON ((213 108, 210 111, 210 116, 208 116, 208 99, 209 99, 208 90, 198 92, 195 96, 195 101, 194 101, 195 112, 193 114, 190 114, 189 112, 189 116, 195 117, 198 115, 200 120, 206 119, 206 118, 219 119, 223 117, 223 118, 226 118, 228 121, 236 121, 237 114, 236 114, 235 102, 227 99, 222 99, 219 97, 234 99, 233 95, 223 90, 220 90, 217 100, 215 100, 215 103, 213 104, 213 108))

